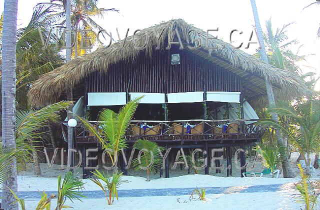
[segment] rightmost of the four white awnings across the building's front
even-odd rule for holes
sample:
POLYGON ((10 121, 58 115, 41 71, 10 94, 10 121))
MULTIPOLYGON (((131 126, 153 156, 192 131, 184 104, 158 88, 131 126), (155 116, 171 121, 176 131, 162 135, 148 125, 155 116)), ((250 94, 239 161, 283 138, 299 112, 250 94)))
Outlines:
POLYGON ((208 91, 206 92, 206 100, 219 101, 229 103, 239 103, 241 92, 222 92, 222 91, 208 91))

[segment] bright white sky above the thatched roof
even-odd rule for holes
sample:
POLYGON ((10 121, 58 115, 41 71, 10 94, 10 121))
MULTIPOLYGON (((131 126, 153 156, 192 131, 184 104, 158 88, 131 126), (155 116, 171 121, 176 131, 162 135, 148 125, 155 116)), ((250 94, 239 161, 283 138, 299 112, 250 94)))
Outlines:
MULTIPOLYGON (((29 21, 32 7, 38 2, 48 0, 19 0, 18 27, 23 27, 29 21)), ((320 38, 316 38, 320 27, 320 5, 303 9, 315 0, 255 0, 262 30, 265 30, 265 20, 271 18, 273 30, 291 23, 286 34, 288 41, 296 39, 298 43, 289 47, 293 52, 299 48, 298 54, 308 55, 307 62, 298 63, 303 72, 315 71, 320 75, 320 38), (303 44, 301 47, 299 47, 303 44), (308 66, 312 66, 308 67, 308 66)), ((233 44, 244 42, 241 50, 250 54, 258 45, 244 46, 254 26, 250 0, 99 0, 99 7, 116 8, 117 12, 109 12, 103 19, 95 19, 105 30, 112 32, 112 37, 118 39, 115 28, 118 28, 121 38, 124 38, 127 28, 132 34, 136 29, 143 29, 172 18, 182 18, 193 26, 203 30, 216 29, 211 32, 218 38, 229 42, 229 33, 233 29, 243 31, 233 34, 233 44)), ((0 11, 3 10, 3 0, 0 0, 0 11)), ((254 38, 254 37, 253 37, 254 38)), ((316 89, 320 90, 320 82, 316 89)))

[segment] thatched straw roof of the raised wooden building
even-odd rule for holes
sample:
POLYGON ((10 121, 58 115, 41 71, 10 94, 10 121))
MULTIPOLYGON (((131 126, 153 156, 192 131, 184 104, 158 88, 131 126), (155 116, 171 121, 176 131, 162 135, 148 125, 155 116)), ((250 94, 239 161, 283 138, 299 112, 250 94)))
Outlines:
MULTIPOLYGON (((56 102, 61 94, 65 92, 66 84, 72 86, 81 82, 88 74, 99 70, 107 71, 110 64, 121 60, 135 59, 140 52, 134 46, 142 46, 145 43, 145 37, 148 37, 144 49, 146 56, 152 56, 152 50, 158 45, 157 34, 162 34, 159 38, 159 46, 164 49, 167 46, 167 39, 175 37, 174 28, 176 28, 185 43, 186 37, 191 43, 194 40, 201 39, 202 45, 206 43, 206 32, 186 23, 182 19, 173 19, 160 24, 145 28, 134 36, 126 38, 123 48, 122 41, 111 44, 107 48, 98 48, 97 50, 75 58, 70 62, 43 74, 32 84, 28 96, 33 105, 44 105, 56 102), (188 31, 192 32, 188 33, 188 31)), ((209 35, 210 36, 210 35, 209 35)), ((213 36, 210 36, 213 37, 213 36)), ((229 43, 220 39, 208 39, 210 46, 216 49, 184 50, 196 53, 205 59, 234 72, 241 78, 250 78, 250 87, 256 87, 259 96, 252 98, 253 102, 260 103, 265 100, 264 78, 268 78, 274 85, 274 93, 278 98, 292 98, 293 96, 305 94, 308 90, 304 83, 290 72, 278 69, 272 65, 262 62, 260 59, 243 52, 240 49, 233 48, 229 43)))

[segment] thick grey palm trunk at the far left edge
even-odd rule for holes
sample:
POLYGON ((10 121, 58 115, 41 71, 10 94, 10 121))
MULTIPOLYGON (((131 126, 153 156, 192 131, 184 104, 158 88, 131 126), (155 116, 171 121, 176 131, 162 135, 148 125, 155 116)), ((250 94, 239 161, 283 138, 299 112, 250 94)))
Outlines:
MULTIPOLYGON (((4 0, 2 30, 2 145, 15 149, 15 68, 16 68, 16 18, 18 0, 4 0)), ((18 209, 18 204, 9 188, 17 191, 16 160, 6 168, 7 178, 3 182, 2 208, 18 209)))

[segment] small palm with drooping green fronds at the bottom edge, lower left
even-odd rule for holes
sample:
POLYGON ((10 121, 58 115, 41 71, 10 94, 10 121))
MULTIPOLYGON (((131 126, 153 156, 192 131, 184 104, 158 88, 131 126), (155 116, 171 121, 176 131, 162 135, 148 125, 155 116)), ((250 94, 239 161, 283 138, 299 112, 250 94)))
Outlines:
POLYGON ((85 197, 83 195, 83 182, 74 177, 71 171, 68 171, 63 180, 61 176, 58 176, 58 193, 57 193, 57 206, 56 210, 61 210, 62 208, 70 208, 70 206, 64 205, 66 198, 69 198, 71 201, 73 199, 78 199, 81 201, 80 197, 85 197))

